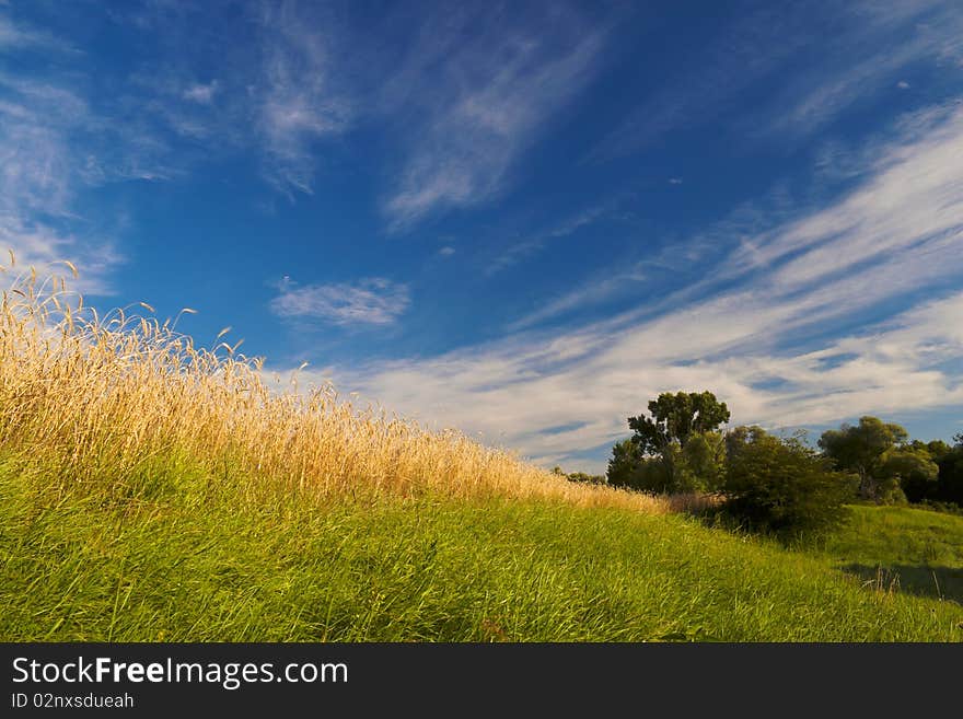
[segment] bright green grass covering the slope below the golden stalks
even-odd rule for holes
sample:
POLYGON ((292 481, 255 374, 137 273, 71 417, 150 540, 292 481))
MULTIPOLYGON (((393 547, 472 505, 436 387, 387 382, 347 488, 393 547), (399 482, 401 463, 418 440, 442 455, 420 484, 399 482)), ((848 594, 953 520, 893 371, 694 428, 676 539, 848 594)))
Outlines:
POLYGON ((963 640, 959 604, 834 568, 871 564, 858 523, 821 555, 681 515, 255 497, 173 462, 65 483, 0 463, 2 640, 963 640))

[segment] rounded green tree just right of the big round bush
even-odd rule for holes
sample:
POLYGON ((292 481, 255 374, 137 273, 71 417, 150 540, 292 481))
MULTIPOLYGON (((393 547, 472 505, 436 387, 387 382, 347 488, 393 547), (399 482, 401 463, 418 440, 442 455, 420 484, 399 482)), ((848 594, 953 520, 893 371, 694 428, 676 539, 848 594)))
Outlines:
POLYGON ((823 432, 819 445, 836 468, 859 476, 859 492, 863 498, 881 500, 898 487, 898 478, 886 471, 882 457, 907 437, 900 425, 866 416, 860 417, 855 427, 843 424, 839 429, 823 432))

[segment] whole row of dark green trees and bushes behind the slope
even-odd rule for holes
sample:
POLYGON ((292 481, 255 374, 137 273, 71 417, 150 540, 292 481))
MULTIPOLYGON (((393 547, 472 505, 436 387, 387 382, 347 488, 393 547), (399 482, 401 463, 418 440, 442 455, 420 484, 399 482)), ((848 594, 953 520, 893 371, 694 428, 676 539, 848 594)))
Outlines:
POLYGON ((723 430, 730 411, 711 392, 662 393, 648 410, 628 418, 633 434, 612 448, 604 476, 569 479, 719 495, 744 523, 777 533, 832 524, 856 499, 963 507, 963 433, 953 445, 923 442, 900 425, 865 416, 823 432, 813 448, 802 432, 723 430))

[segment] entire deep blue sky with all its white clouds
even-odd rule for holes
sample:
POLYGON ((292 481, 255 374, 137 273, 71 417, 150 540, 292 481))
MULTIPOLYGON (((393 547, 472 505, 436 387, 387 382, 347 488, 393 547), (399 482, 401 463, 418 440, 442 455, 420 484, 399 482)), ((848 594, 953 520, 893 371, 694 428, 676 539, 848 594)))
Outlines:
POLYGON ((0 247, 546 466, 963 431, 963 11, 0 0, 0 247))

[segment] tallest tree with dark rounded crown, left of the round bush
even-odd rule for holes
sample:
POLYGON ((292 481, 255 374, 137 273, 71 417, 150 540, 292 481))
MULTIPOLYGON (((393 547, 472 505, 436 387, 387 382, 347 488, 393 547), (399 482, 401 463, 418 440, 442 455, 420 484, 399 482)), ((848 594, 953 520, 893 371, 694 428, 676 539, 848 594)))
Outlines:
POLYGON ((629 417, 631 442, 642 457, 658 456, 671 491, 710 488, 721 477, 729 408, 711 392, 663 392, 649 402, 650 417, 629 417), (703 473, 707 472, 709 476, 703 473))

